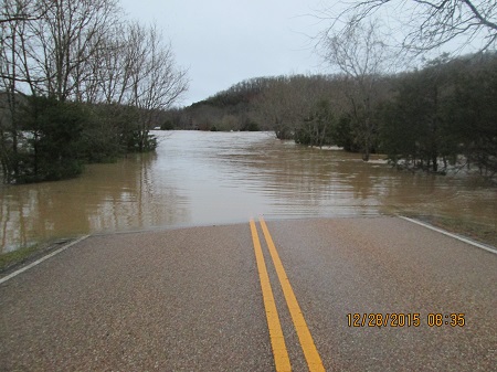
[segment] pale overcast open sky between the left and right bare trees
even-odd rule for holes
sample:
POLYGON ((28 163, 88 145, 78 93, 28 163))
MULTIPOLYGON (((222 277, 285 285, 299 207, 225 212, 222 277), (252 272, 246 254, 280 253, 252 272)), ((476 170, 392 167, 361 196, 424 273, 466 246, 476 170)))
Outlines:
POLYGON ((326 71, 310 36, 318 0, 121 0, 130 19, 155 22, 189 70, 182 105, 204 99, 243 79, 326 71))

